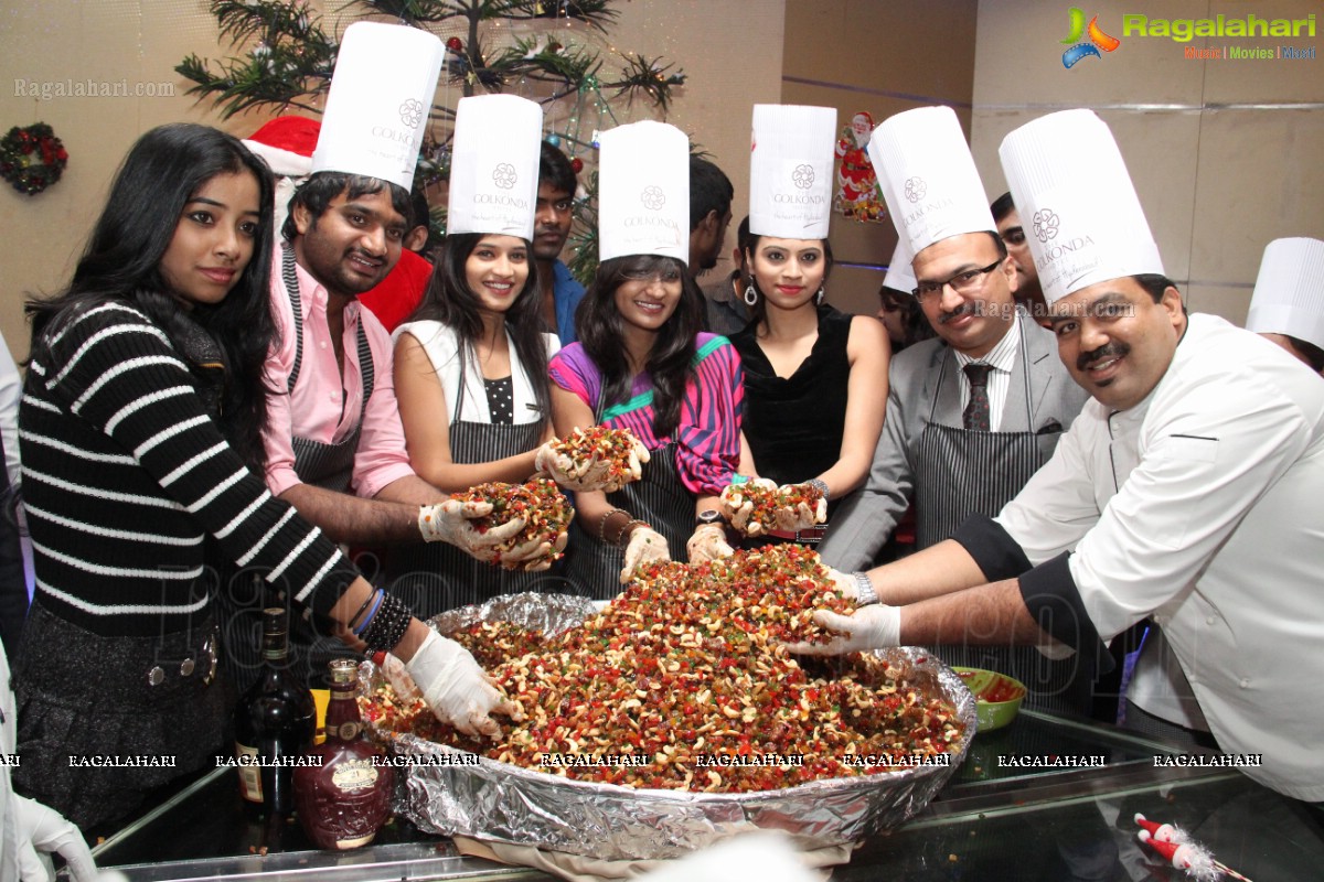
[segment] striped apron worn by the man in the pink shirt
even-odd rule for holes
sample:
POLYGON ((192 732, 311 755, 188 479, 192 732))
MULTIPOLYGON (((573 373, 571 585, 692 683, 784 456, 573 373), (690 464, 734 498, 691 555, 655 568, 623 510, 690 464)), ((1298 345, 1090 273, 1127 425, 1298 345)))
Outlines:
MULTIPOLYGON (((303 366, 303 304, 299 298, 299 278, 295 274, 294 249, 286 245, 281 250, 281 280, 294 308, 294 365, 286 390, 294 394, 303 366)), ((363 382, 363 401, 359 402, 359 423, 354 431, 339 442, 315 442, 307 438, 291 438, 294 448, 294 472, 299 480, 312 487, 347 493, 354 475, 354 458, 359 451, 359 435, 363 430, 363 417, 368 410, 368 399, 376 382, 372 364, 372 349, 363 323, 357 335, 359 377, 363 382)), ((225 587, 217 602, 220 620, 224 623, 221 653, 226 674, 234 681, 242 694, 256 680, 262 668, 262 608, 274 603, 290 610, 289 598, 283 592, 265 599, 269 592, 261 574, 236 573, 233 567, 221 567, 225 587)), ((318 686, 327 677, 327 662, 332 659, 352 659, 355 653, 339 639, 330 636, 334 623, 323 619, 314 624, 308 612, 290 611, 290 670, 303 682, 318 686)))

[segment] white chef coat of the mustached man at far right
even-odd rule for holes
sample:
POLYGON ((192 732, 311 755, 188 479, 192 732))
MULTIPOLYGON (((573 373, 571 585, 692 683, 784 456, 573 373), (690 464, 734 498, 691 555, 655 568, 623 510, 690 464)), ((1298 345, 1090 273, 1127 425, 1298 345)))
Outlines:
POLYGON ((1190 317, 1149 397, 1090 401, 997 521, 1033 565, 1074 551, 1103 640, 1162 627, 1247 775, 1324 800, 1324 383, 1278 346, 1190 317))

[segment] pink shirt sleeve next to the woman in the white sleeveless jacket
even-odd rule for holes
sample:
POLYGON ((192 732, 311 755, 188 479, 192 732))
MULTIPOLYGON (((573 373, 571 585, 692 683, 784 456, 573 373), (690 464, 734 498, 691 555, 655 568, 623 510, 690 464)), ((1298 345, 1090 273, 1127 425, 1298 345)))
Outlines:
POLYGON ((368 346, 372 349, 372 397, 363 413, 359 427, 359 448, 354 458, 354 477, 350 481, 355 496, 372 499, 388 484, 412 477, 409 451, 405 448, 405 430, 396 403, 396 381, 392 370, 391 335, 376 316, 359 308, 359 321, 364 323, 368 346))

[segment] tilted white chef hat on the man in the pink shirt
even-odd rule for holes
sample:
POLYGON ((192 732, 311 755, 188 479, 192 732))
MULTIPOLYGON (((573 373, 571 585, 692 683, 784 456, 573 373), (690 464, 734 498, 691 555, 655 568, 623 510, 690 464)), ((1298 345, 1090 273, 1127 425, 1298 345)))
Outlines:
POLYGON ((418 28, 376 21, 346 28, 312 171, 377 177, 408 190, 445 54, 441 40, 418 28))

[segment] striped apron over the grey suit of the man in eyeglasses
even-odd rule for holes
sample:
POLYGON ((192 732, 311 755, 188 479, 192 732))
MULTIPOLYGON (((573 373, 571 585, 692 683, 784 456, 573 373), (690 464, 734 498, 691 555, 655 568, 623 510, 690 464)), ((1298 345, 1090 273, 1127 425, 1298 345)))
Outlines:
MULTIPOLYGON (((937 390, 948 360, 939 368, 928 424, 920 432, 915 465, 915 549, 949 538, 970 514, 994 517, 1051 456, 1033 431, 976 432, 933 422, 937 390)), ((1030 418, 1029 360, 1021 337, 1026 426, 1030 418)), ((988 668, 1016 677, 1029 694, 1025 706, 1037 710, 1090 713, 1092 670, 1079 653, 1051 661, 1034 647, 943 645, 933 651, 949 665, 988 668)))

